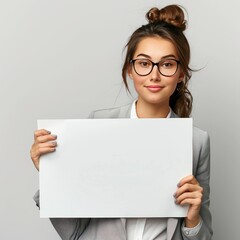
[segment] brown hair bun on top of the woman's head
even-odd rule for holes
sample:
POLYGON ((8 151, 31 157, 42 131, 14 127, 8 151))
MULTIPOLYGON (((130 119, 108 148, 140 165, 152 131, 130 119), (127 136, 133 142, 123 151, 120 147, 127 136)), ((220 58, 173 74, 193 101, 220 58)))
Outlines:
POLYGON ((177 5, 168 5, 162 9, 152 8, 147 14, 146 18, 149 23, 166 22, 182 31, 186 29, 186 20, 184 19, 184 12, 181 7, 177 5))

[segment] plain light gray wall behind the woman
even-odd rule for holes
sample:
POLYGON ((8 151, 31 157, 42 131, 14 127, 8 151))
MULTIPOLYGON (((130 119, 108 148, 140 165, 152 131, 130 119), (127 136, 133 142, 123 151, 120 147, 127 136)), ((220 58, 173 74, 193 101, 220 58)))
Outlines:
POLYGON ((0 1, 0 239, 59 239, 32 200, 36 120, 85 118, 132 101, 122 86, 123 47, 149 8, 172 3, 188 12, 191 66, 204 67, 190 88, 194 123, 211 136, 214 239, 239 239, 237 0, 0 1))

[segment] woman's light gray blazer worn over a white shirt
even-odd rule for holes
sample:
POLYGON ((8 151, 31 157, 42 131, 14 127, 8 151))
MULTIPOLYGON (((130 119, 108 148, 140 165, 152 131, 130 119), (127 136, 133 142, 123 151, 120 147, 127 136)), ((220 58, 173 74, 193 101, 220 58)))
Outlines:
MULTIPOLYGON (((94 111, 90 118, 130 118, 132 104, 94 111)), ((178 117, 172 113, 172 118, 178 117)), ((210 144, 208 134, 193 128, 193 175, 204 189, 201 207, 202 227, 197 236, 189 237, 181 231, 182 218, 169 218, 167 221, 167 240, 210 240, 212 239, 211 214, 209 211, 210 144)), ((39 193, 34 197, 39 206, 39 193)), ((59 236, 64 240, 127 240, 126 220, 51 218, 59 236)))

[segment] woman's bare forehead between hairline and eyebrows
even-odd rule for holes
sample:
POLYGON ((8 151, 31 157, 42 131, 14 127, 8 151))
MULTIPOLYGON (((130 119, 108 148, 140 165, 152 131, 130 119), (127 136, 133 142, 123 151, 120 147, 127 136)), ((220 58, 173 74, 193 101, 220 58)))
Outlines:
POLYGON ((173 43, 162 37, 146 37, 142 39, 137 45, 134 58, 139 54, 146 54, 156 61, 167 55, 178 57, 173 43))

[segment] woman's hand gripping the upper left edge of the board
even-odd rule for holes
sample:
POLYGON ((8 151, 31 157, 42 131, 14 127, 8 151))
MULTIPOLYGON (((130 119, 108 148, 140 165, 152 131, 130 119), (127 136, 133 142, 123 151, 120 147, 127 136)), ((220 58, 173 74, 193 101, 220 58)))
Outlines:
POLYGON ((51 132, 45 129, 40 129, 34 132, 34 143, 31 147, 30 155, 37 170, 39 170, 40 156, 56 150, 56 139, 56 135, 51 134, 51 132))

